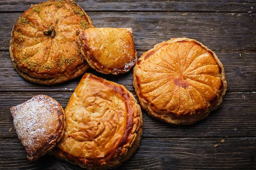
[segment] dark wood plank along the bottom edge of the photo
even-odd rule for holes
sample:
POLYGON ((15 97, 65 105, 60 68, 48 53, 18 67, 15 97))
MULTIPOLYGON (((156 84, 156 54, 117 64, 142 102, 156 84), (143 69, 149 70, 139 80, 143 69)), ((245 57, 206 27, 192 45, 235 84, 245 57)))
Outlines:
MULTIPOLYGON (((145 139, 137 152, 118 170, 255 170, 256 138, 145 139), (224 139, 224 143, 221 140, 224 139), (215 144, 219 144, 214 147, 215 144)), ((0 140, 0 169, 80 170, 45 155, 31 164, 18 139, 0 140)))

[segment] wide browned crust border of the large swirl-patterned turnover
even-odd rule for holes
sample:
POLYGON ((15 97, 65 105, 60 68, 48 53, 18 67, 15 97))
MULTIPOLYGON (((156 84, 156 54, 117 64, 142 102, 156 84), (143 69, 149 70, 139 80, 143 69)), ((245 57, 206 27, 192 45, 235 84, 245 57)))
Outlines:
MULTIPOLYGON (((125 125, 125 132, 120 140, 118 146, 114 148, 111 152, 105 155, 104 159, 85 159, 81 157, 75 157, 70 153, 66 153, 63 150, 59 149, 58 147, 52 151, 59 159, 65 159, 71 164, 78 164, 80 167, 86 169, 95 169, 95 170, 102 170, 102 169, 111 169, 118 167, 122 164, 122 162, 128 160, 131 155, 137 150, 137 147, 140 144, 140 139, 142 136, 142 126, 143 126, 143 119, 142 113, 140 109, 140 105, 137 104, 137 100, 134 98, 133 94, 128 91, 125 86, 118 85, 115 82, 110 82, 106 79, 102 79, 100 77, 96 77, 93 74, 84 74, 82 79, 93 79, 94 81, 103 83, 104 85, 111 88, 115 93, 121 95, 123 99, 125 99, 126 108, 128 111, 127 114, 127 124, 125 125), (136 110, 134 110, 133 106, 136 106, 136 110), (136 112, 136 115, 134 113, 136 112), (139 117, 139 122, 137 125, 137 129, 132 132, 134 128, 134 119, 139 117), (133 139, 130 136, 135 135, 133 139), (125 149, 126 148, 126 149, 125 149), (124 151, 126 150, 126 151, 124 151), (106 164, 101 164, 105 162, 106 164)), ((82 80, 81 80, 82 81, 82 80)), ((82 88, 78 85, 77 88, 82 88)), ((72 98, 72 96, 71 96, 72 98)))

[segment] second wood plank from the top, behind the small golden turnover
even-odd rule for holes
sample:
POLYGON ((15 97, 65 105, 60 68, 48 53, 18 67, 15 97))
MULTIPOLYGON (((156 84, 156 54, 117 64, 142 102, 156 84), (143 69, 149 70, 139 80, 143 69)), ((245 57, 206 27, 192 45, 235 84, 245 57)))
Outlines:
MULTIPOLYGON (((9 49, 20 16, 0 13, 0 50, 9 49)), ((131 27, 137 49, 148 50, 173 37, 189 37, 214 51, 256 51, 256 14, 177 12, 88 12, 96 27, 131 27)))

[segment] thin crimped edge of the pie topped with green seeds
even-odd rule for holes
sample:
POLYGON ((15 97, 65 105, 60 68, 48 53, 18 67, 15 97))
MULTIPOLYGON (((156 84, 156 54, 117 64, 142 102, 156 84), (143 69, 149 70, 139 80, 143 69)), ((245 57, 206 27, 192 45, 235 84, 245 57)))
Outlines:
MULTIPOLYGON (((66 0, 66 1, 72 1, 72 0, 66 0)), ((79 8, 81 8, 81 7, 79 6, 79 8)), ((88 24, 91 25, 92 28, 94 28, 91 18, 88 16, 88 14, 83 9, 82 9, 82 11, 83 11, 85 17, 87 18, 88 24)), ((14 27, 15 27, 15 25, 12 28, 12 32, 13 32, 14 27)), ((12 60, 12 65, 14 66, 14 68, 20 74, 21 77, 23 77, 24 79, 26 79, 30 82, 37 83, 37 84, 42 84, 42 85, 57 84, 57 83, 68 81, 70 79, 75 79, 76 77, 79 77, 81 74, 83 74, 85 71, 87 71, 90 68, 90 65, 88 65, 88 63, 86 63, 86 65, 80 65, 76 69, 76 72, 74 72, 73 75, 69 75, 68 77, 66 77, 65 74, 62 75, 62 76, 57 76, 57 77, 45 77, 45 78, 44 77, 32 77, 32 76, 29 75, 29 73, 27 73, 26 71, 23 71, 17 65, 16 60, 15 60, 15 58, 13 56, 13 53, 12 53, 12 45, 11 45, 12 40, 13 40, 13 35, 11 34, 9 52, 10 52, 10 57, 11 57, 11 60, 12 60)))

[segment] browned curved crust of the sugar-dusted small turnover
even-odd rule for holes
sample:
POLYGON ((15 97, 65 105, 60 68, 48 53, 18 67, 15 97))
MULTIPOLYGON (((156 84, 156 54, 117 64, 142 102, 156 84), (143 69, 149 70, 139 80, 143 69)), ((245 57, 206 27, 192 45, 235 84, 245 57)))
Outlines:
MULTIPOLYGON (((44 95, 46 96, 46 95, 44 95)), ((49 96, 46 96, 47 98, 51 98, 49 96)), ((27 153, 27 158, 29 159, 30 162, 35 162, 39 159, 40 156, 45 155, 47 152, 51 151, 57 142, 59 142, 63 136, 64 136, 64 130, 65 130, 65 126, 66 126, 66 122, 65 122, 65 112, 61 106, 61 104, 59 102, 57 102, 55 99, 53 99, 56 103, 58 103, 58 116, 59 116, 59 122, 58 122, 58 127, 56 128, 56 133, 52 134, 51 137, 49 138, 49 140, 43 145, 41 146, 38 150, 36 150, 35 152, 32 153, 27 153)), ((16 106, 12 107, 11 113, 13 113, 14 109, 16 106)), ((13 114, 12 114, 13 116, 13 114)), ((24 146, 25 147, 25 146, 24 146)), ((25 150, 27 150, 28 148, 25 147, 25 150)))

